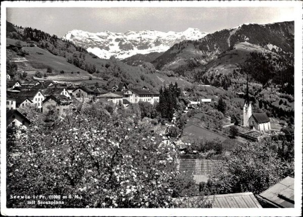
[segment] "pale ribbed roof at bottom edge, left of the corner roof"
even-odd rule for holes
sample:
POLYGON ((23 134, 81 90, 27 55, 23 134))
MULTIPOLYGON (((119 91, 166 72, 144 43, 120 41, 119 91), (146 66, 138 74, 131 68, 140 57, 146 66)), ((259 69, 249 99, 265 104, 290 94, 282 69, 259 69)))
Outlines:
MULTIPOLYGON (((200 197, 173 198, 182 208, 197 208, 199 200, 200 197)), ((251 192, 210 195, 206 201, 212 203, 212 208, 262 208, 251 192)))

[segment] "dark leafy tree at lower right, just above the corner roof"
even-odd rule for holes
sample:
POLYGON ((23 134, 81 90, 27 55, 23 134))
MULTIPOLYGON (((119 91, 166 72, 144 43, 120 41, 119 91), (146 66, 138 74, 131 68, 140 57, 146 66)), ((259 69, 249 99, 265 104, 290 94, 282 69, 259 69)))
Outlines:
POLYGON ((237 146, 211 180, 220 194, 252 192, 256 195, 287 175, 293 175, 293 166, 279 158, 275 142, 266 140, 237 146))

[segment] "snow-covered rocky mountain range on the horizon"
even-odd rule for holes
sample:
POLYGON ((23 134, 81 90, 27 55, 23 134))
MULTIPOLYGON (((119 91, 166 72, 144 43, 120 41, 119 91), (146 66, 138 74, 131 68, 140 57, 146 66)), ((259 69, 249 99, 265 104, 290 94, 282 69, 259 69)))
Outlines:
POLYGON ((184 32, 160 32, 143 30, 115 33, 110 31, 90 33, 82 30, 69 31, 63 38, 82 46, 99 58, 125 59, 138 53, 164 52, 183 40, 197 40, 207 35, 199 29, 188 28, 184 32))

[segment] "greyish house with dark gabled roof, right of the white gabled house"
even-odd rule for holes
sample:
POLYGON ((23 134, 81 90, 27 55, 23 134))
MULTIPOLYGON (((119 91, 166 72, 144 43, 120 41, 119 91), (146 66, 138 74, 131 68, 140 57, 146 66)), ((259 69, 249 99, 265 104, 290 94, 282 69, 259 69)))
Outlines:
POLYGON ((55 112, 59 116, 66 116, 70 104, 73 102, 72 99, 65 95, 50 95, 42 101, 42 113, 48 114, 49 110, 53 107, 55 112))

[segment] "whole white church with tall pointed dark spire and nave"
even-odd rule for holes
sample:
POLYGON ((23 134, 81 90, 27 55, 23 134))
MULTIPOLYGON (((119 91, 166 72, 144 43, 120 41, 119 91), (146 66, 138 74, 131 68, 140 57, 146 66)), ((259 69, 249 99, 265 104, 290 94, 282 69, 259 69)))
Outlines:
POLYGON ((270 119, 266 113, 252 113, 251 102, 248 96, 248 75, 246 83, 246 96, 243 105, 243 127, 248 127, 251 130, 270 131, 270 119))

